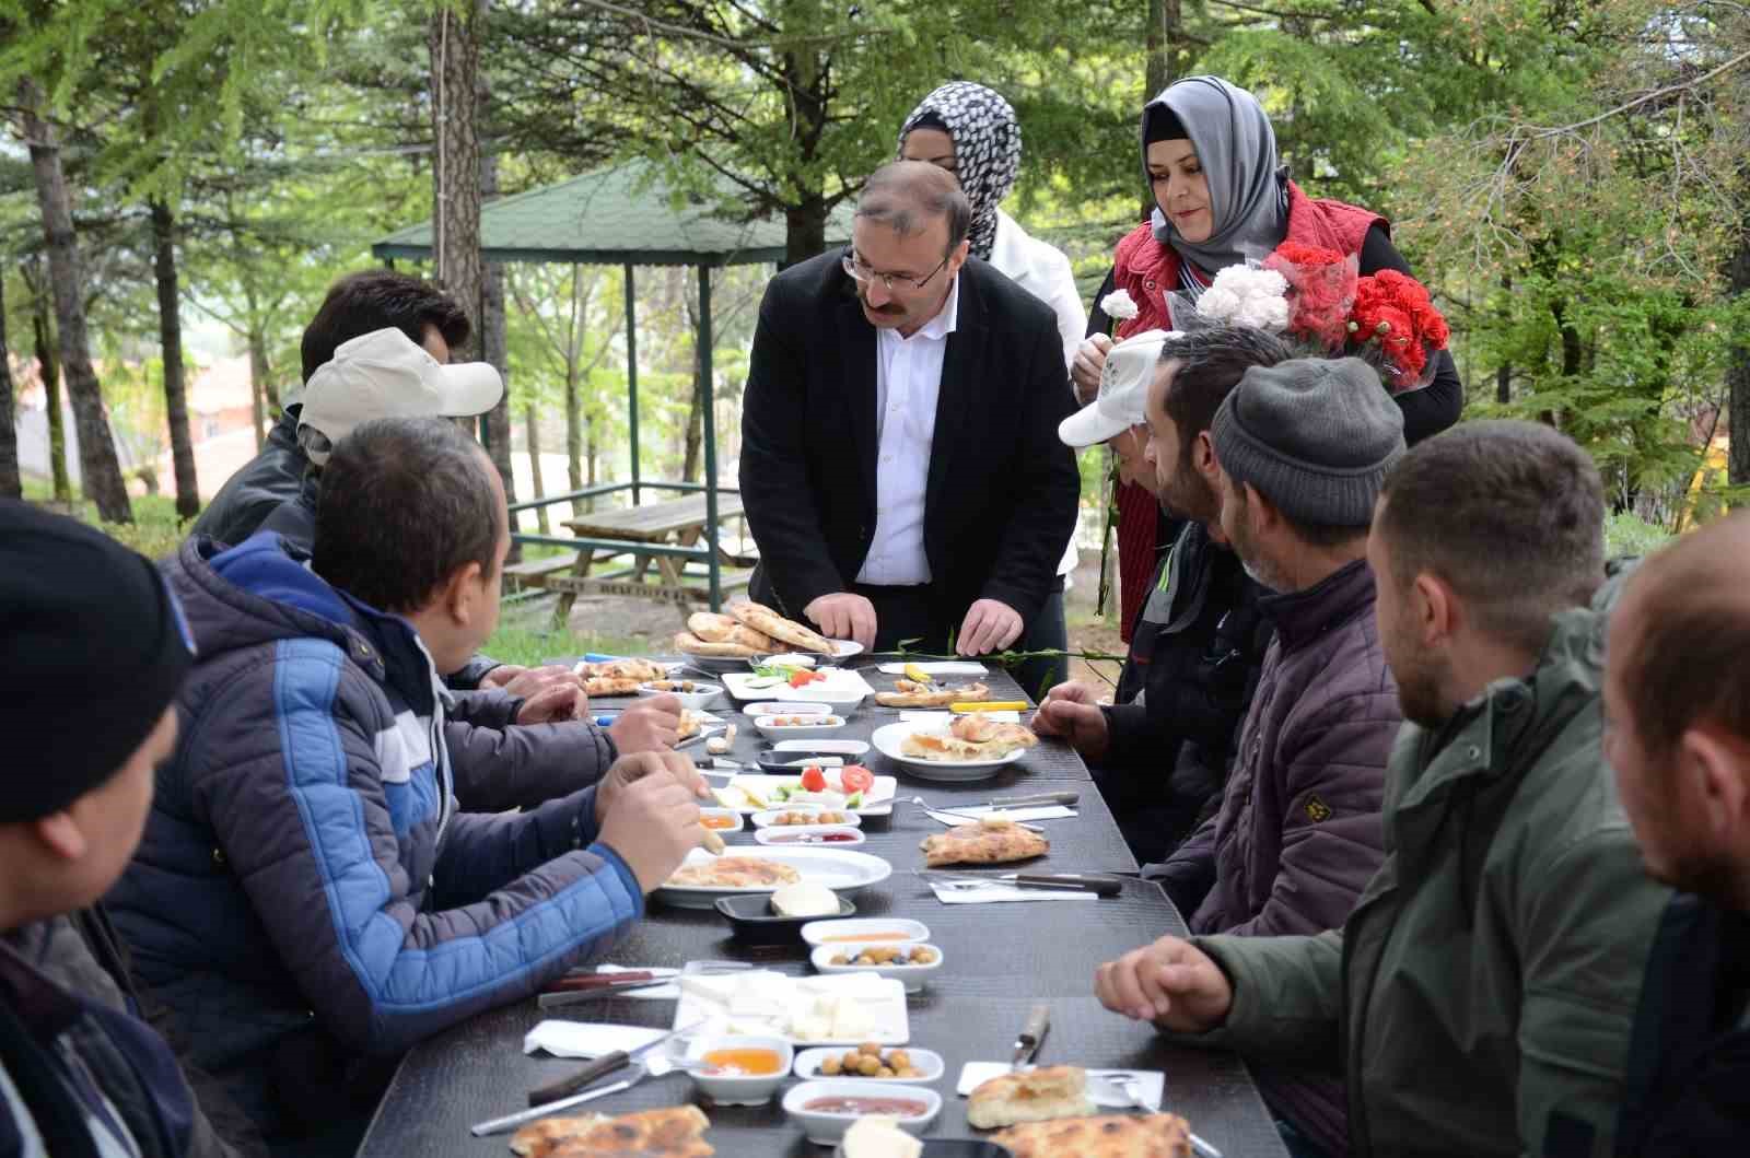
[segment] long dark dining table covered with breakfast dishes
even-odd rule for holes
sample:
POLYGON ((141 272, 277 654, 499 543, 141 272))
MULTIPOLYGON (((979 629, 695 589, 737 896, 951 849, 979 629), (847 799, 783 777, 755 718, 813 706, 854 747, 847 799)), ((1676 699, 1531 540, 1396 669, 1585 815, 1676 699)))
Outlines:
MULTIPOLYGON (((894 677, 878 673, 873 663, 863 666, 877 691, 892 686, 894 677)), ((992 672, 985 682, 996 698, 1026 698, 1001 672, 992 672)), ((592 707, 611 705, 602 700, 592 707)), ((765 740, 740 715, 738 705, 724 701, 714 712, 742 724, 732 757, 751 763, 754 749, 765 740)), ((845 738, 866 740, 875 728, 894 719, 896 710, 878 708, 870 700, 850 714, 845 738)), ((901 799, 919 794, 931 805, 950 808, 984 803, 992 794, 1080 791, 1076 819, 1041 822, 1052 852, 1034 864, 1052 871, 1134 875, 1138 869, 1087 766, 1064 743, 1041 742, 1018 764, 976 784, 919 780, 873 750, 864 763, 875 773, 898 775, 901 799)), ((929 1137, 976 1137, 966 1125, 966 1100, 954 1095, 961 1065, 1006 1062, 1029 1006, 1048 1002, 1052 1030, 1040 1053, 1041 1065, 1164 1071, 1164 1107, 1188 1118, 1192 1128, 1225 1158, 1286 1153, 1237 1057, 1167 1044, 1152 1027, 1108 1013, 1094 999, 1096 966, 1162 934, 1185 934, 1185 922, 1158 885, 1132 878, 1122 896, 1101 901, 948 906, 936 901, 912 873, 922 868, 919 841, 940 831, 942 824, 908 803, 896 805, 891 820, 866 817, 868 843, 861 845, 861 852, 886 857, 894 875, 856 897, 859 917, 922 920, 945 955, 936 980, 906 1001, 912 1044, 934 1050, 947 1062, 947 1074, 933 1086, 943 1099, 943 1109, 929 1137)), ((730 843, 758 848, 749 833, 732 834, 730 843)), ((749 960, 796 976, 810 973, 803 945, 749 950, 730 939, 728 925, 714 911, 663 906, 653 906, 604 957, 616 964, 676 967, 695 959, 749 960)), ((534 1001, 525 1001, 457 1025, 408 1053, 359 1149, 360 1158, 508 1155, 508 1135, 476 1139, 467 1127, 522 1109, 530 1088, 579 1065, 576 1060, 523 1055, 523 1036, 548 1016, 668 1027, 674 1002, 611 997, 542 1013, 534 1001)), ((789 1125, 779 1106, 780 1097, 782 1092, 761 1107, 714 1107, 695 1093, 686 1076, 668 1074, 578 1113, 618 1114, 696 1100, 710 1116, 707 1139, 726 1158, 824 1155, 789 1125)))

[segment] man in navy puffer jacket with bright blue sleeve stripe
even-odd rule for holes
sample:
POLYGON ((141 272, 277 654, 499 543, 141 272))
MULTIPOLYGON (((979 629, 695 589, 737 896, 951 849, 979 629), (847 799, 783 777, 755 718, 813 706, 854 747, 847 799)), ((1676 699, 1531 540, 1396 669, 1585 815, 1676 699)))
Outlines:
POLYGON ((382 420, 334 448, 308 565, 271 534, 166 563, 200 661, 110 899, 276 1148, 345 1148, 385 1060, 604 948, 704 840, 674 754, 516 815, 457 810, 439 672, 497 623, 504 511, 453 425, 382 420))

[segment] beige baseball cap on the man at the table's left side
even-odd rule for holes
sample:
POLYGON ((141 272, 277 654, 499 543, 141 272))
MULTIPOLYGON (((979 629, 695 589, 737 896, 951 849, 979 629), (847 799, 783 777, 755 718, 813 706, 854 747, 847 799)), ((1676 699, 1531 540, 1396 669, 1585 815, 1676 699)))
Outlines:
MULTIPOLYGON (((388 327, 343 341, 334 357, 304 383, 298 429, 310 427, 340 443, 376 418, 471 418, 504 397, 504 380, 492 362, 444 366, 399 329, 388 327)), ((326 453, 310 453, 317 465, 326 453)))

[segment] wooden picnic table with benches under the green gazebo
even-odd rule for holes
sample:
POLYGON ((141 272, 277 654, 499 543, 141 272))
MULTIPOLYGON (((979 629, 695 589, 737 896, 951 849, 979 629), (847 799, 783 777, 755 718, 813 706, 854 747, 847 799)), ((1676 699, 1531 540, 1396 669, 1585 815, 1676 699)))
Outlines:
MULTIPOLYGON (((724 523, 740 514, 742 497, 735 492, 719 492, 718 521, 724 523)), ((672 549, 696 549, 707 521, 704 493, 570 518, 562 525, 578 537, 576 553, 514 563, 506 567, 506 574, 522 586, 556 591, 555 621, 560 626, 569 621, 579 595, 639 595, 684 607, 709 598, 710 593, 686 581, 688 556, 672 549), (630 567, 606 576, 592 574, 598 562, 621 555, 632 556, 630 567), (656 565, 654 582, 649 579, 651 563, 656 565)), ((754 565, 752 558, 719 548, 718 562, 723 567, 744 569, 742 574, 724 574, 723 589, 747 586, 746 569, 754 565)))

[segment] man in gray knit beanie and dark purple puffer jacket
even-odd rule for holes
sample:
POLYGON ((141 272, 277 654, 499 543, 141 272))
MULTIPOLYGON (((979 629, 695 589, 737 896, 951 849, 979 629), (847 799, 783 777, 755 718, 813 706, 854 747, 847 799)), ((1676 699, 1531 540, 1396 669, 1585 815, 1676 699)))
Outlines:
MULTIPOLYGON (((1283 936, 1342 927, 1382 859, 1386 759, 1402 722, 1374 623, 1367 532, 1404 416, 1358 359, 1260 366, 1209 429, 1222 532, 1272 595, 1276 624, 1241 726, 1222 810, 1167 861, 1214 883, 1195 934, 1283 936)), ((1181 897, 1183 899, 1183 897, 1181 897)), ((1118 1013, 1150 1013, 1141 981, 1158 945, 1101 966, 1118 1013)), ((1297 1153, 1348 1153, 1342 1083, 1258 1065, 1258 1085, 1297 1153)))

